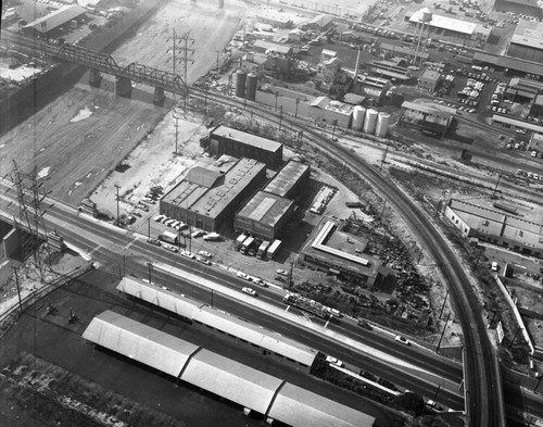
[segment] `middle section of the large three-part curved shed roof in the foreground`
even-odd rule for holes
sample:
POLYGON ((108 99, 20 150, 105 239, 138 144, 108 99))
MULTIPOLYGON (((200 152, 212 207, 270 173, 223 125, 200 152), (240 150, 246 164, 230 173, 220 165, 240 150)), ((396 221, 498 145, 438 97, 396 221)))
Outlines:
POLYGON ((181 379, 261 414, 266 413, 285 382, 209 350, 200 351, 190 361, 181 379))

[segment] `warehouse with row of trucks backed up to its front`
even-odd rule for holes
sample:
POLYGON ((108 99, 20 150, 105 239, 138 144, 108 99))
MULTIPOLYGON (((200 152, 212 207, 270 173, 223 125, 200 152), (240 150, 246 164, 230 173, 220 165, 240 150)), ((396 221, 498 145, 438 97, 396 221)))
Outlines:
POLYGON ((233 223, 236 233, 249 233, 265 240, 274 240, 291 218, 294 202, 277 194, 258 191, 238 212, 233 223))

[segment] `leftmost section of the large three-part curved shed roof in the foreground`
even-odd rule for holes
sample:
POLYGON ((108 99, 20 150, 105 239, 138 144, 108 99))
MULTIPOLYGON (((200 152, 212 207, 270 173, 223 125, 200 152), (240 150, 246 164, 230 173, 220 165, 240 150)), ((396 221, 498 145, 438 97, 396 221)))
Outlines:
POLYGON ((96 316, 83 338, 174 377, 199 349, 112 311, 96 316))

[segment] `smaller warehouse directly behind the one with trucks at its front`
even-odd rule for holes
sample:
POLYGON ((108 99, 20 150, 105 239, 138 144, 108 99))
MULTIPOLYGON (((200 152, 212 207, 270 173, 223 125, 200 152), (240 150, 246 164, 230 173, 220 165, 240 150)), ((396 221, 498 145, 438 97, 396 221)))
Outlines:
POLYGON ((311 167, 306 164, 289 161, 264 188, 264 191, 287 199, 295 199, 310 181, 311 167))

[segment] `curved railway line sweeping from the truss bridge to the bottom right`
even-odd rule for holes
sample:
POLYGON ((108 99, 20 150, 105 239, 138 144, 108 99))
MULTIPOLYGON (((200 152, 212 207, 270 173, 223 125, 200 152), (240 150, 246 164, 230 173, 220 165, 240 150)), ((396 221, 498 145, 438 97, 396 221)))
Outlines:
POLYGON ((281 120, 282 128, 292 131, 303 130, 307 141, 317 146, 330 158, 341 163, 344 162, 353 173, 367 180, 382 198, 388 200, 402 215, 406 225, 417 234, 427 251, 435 259, 447 284, 456 316, 460 319, 465 340, 465 395, 469 426, 506 426, 500 366, 480 315, 481 307, 462 264, 430 218, 421 213, 400 188, 386 179, 376 168, 359 158, 353 156, 349 149, 324 138, 319 130, 294 123, 293 120, 286 116, 279 118, 279 114, 252 103, 244 104, 242 101, 213 92, 204 92, 197 88, 191 88, 190 93, 195 98, 205 96, 207 101, 215 100, 226 105, 243 106, 247 111, 264 116, 275 124, 281 120))

